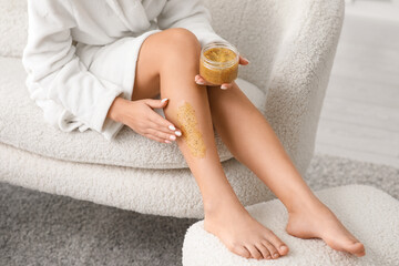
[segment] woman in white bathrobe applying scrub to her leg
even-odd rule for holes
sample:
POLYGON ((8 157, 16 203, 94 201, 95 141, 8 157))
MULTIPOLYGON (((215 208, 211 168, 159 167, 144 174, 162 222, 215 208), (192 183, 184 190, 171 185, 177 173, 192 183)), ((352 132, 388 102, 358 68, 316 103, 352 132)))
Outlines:
MULTIPOLYGON (((233 155, 287 207, 288 234, 365 255, 237 84, 214 85, 198 75, 201 48, 227 42, 213 31, 201 0, 29 0, 28 11, 22 63, 31 98, 49 123, 66 132, 95 130, 110 141, 123 125, 162 143, 176 141, 203 196, 205 229, 247 258, 286 255, 287 245, 235 195, 214 125, 233 155), (160 94, 163 100, 155 100, 160 94), (153 109, 164 109, 166 119, 153 109)), ((241 57, 239 63, 248 61, 241 57)))

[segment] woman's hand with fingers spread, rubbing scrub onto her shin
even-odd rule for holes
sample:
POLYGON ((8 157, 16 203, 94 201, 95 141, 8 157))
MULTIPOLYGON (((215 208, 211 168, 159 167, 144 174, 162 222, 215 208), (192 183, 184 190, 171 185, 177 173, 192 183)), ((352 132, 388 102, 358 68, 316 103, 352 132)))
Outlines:
POLYGON ((172 143, 182 132, 153 110, 165 108, 167 102, 167 99, 129 101, 117 96, 110 108, 108 117, 151 140, 172 143))

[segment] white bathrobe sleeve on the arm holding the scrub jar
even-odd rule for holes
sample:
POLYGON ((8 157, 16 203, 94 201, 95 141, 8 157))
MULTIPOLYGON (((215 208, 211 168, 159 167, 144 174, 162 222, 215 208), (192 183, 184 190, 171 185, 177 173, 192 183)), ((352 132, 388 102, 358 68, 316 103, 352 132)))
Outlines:
POLYGON ((197 37, 202 47, 214 41, 229 43, 215 33, 211 22, 211 12, 202 0, 166 0, 166 4, 157 17, 161 30, 185 28, 197 37))

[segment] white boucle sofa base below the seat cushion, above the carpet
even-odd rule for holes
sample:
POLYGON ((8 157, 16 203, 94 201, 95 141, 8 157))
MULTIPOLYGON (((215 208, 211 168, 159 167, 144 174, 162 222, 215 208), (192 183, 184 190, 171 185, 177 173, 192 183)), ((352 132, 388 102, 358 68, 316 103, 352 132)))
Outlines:
MULTIPOLYGON (((244 205, 273 198, 266 185, 235 158, 222 165, 244 205)), ((73 163, 0 143, 0 182, 143 214, 204 218, 201 193, 190 168, 73 163)))

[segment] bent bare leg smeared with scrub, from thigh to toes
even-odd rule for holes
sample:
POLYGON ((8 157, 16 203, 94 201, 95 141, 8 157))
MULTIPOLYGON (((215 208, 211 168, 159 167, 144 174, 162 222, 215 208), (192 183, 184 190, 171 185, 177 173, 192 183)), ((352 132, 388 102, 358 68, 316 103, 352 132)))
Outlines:
POLYGON ((188 139, 177 140, 203 196, 205 229, 241 256, 276 258, 288 248, 243 207, 219 163, 207 90, 194 82, 200 52, 196 37, 187 30, 168 29, 150 35, 140 51, 132 100, 152 98, 161 91, 162 98, 170 99, 166 117, 181 126, 183 136, 203 142, 204 153, 188 139))

